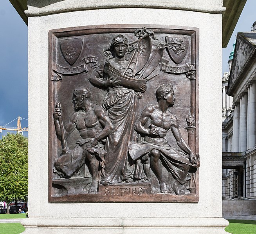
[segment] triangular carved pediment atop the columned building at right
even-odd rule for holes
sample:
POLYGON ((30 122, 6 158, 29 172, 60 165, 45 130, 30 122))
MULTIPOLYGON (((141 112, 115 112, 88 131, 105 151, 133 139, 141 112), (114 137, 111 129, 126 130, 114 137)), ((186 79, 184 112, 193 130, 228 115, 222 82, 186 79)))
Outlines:
POLYGON ((234 90, 242 82, 243 74, 255 57, 256 32, 238 32, 232 61, 227 94, 234 96, 234 90))

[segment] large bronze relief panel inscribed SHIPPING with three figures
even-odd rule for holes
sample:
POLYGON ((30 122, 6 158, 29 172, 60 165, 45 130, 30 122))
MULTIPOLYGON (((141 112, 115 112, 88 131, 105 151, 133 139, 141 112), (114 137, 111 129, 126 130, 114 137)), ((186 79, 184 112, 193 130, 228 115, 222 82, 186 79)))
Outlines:
POLYGON ((49 32, 49 202, 198 202, 198 29, 49 32))

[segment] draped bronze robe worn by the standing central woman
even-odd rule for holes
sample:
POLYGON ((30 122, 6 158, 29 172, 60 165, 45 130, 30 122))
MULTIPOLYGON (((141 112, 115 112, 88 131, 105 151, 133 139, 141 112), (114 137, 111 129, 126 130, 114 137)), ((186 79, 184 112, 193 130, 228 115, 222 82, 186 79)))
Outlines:
MULTIPOLYGON (((122 72, 126 66, 115 64, 110 61, 119 72, 122 72)), ((96 72, 100 77, 107 79, 104 74, 105 62, 102 62, 96 72)), ((108 93, 103 101, 103 108, 108 113, 110 120, 114 125, 114 130, 106 139, 105 150, 105 180, 108 183, 119 183, 128 179, 130 171, 128 167, 128 142, 136 140, 135 123, 139 114, 139 101, 133 89, 116 86, 108 88, 108 93)))

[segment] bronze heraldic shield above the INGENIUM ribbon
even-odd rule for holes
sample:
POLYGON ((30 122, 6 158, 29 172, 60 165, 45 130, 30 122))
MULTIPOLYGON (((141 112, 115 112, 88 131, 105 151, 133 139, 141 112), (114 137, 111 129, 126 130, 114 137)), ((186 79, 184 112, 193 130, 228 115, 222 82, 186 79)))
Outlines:
POLYGON ((165 40, 168 46, 167 51, 170 58, 176 64, 181 63, 187 54, 189 39, 182 37, 166 36, 165 40))

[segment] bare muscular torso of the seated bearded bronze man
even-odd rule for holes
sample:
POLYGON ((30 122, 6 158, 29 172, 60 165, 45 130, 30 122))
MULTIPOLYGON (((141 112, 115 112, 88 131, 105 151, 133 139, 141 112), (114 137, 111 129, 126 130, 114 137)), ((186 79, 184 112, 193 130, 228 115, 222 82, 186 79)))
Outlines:
POLYGON ((81 138, 94 138, 102 131, 101 124, 95 114, 95 107, 88 112, 79 110, 72 116, 72 121, 76 124, 81 138))

